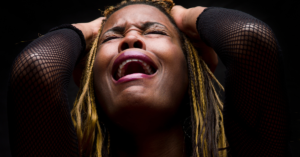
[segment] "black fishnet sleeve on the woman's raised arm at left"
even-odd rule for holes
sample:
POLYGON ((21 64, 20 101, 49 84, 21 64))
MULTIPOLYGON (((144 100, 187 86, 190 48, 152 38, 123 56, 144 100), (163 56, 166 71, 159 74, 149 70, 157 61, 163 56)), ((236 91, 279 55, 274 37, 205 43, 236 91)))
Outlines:
POLYGON ((73 68, 85 48, 78 31, 48 32, 15 59, 8 93, 13 156, 78 156, 67 96, 73 68))

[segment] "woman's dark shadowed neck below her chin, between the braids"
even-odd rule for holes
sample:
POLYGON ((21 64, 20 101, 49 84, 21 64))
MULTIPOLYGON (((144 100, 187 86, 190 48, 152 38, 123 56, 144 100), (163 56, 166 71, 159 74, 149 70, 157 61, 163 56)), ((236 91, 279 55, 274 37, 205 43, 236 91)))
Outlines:
POLYGON ((181 124, 159 131, 130 133, 111 131, 113 157, 185 157, 184 132, 181 124))

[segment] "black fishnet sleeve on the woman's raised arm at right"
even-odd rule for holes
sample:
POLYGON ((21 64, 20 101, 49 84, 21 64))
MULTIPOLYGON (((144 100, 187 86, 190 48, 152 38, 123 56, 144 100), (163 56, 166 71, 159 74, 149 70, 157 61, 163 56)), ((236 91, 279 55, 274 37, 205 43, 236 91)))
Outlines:
POLYGON ((197 29, 227 68, 224 125, 230 152, 286 156, 283 59, 271 28, 241 11, 211 7, 198 17, 197 29))

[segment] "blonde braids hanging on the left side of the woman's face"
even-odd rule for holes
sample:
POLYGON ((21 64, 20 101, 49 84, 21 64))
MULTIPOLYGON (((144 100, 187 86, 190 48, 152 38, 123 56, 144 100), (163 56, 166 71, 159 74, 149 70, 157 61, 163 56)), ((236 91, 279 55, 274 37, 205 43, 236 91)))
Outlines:
MULTIPOLYGON (((102 26, 104 21, 102 22, 102 26)), ((75 99, 74 107, 71 111, 72 120, 77 132, 80 156, 92 155, 92 148, 96 143, 95 154, 102 157, 103 135, 98 120, 96 101, 94 96, 93 65, 98 47, 98 40, 102 28, 98 31, 98 36, 93 42, 88 54, 83 77, 80 81, 79 92, 75 99), (96 141, 95 140, 96 135, 96 141)))

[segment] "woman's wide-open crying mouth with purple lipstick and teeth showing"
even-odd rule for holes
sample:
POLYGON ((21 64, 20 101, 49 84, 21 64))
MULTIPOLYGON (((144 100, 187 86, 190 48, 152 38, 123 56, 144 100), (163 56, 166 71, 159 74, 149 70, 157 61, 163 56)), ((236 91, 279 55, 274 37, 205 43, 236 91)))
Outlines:
MULTIPOLYGON (((141 53, 140 53, 141 54, 141 53)), ((145 75, 152 75, 157 71, 157 67, 152 60, 144 54, 133 55, 126 54, 116 59, 113 65, 113 78, 118 81, 120 78, 141 73, 145 75)))

